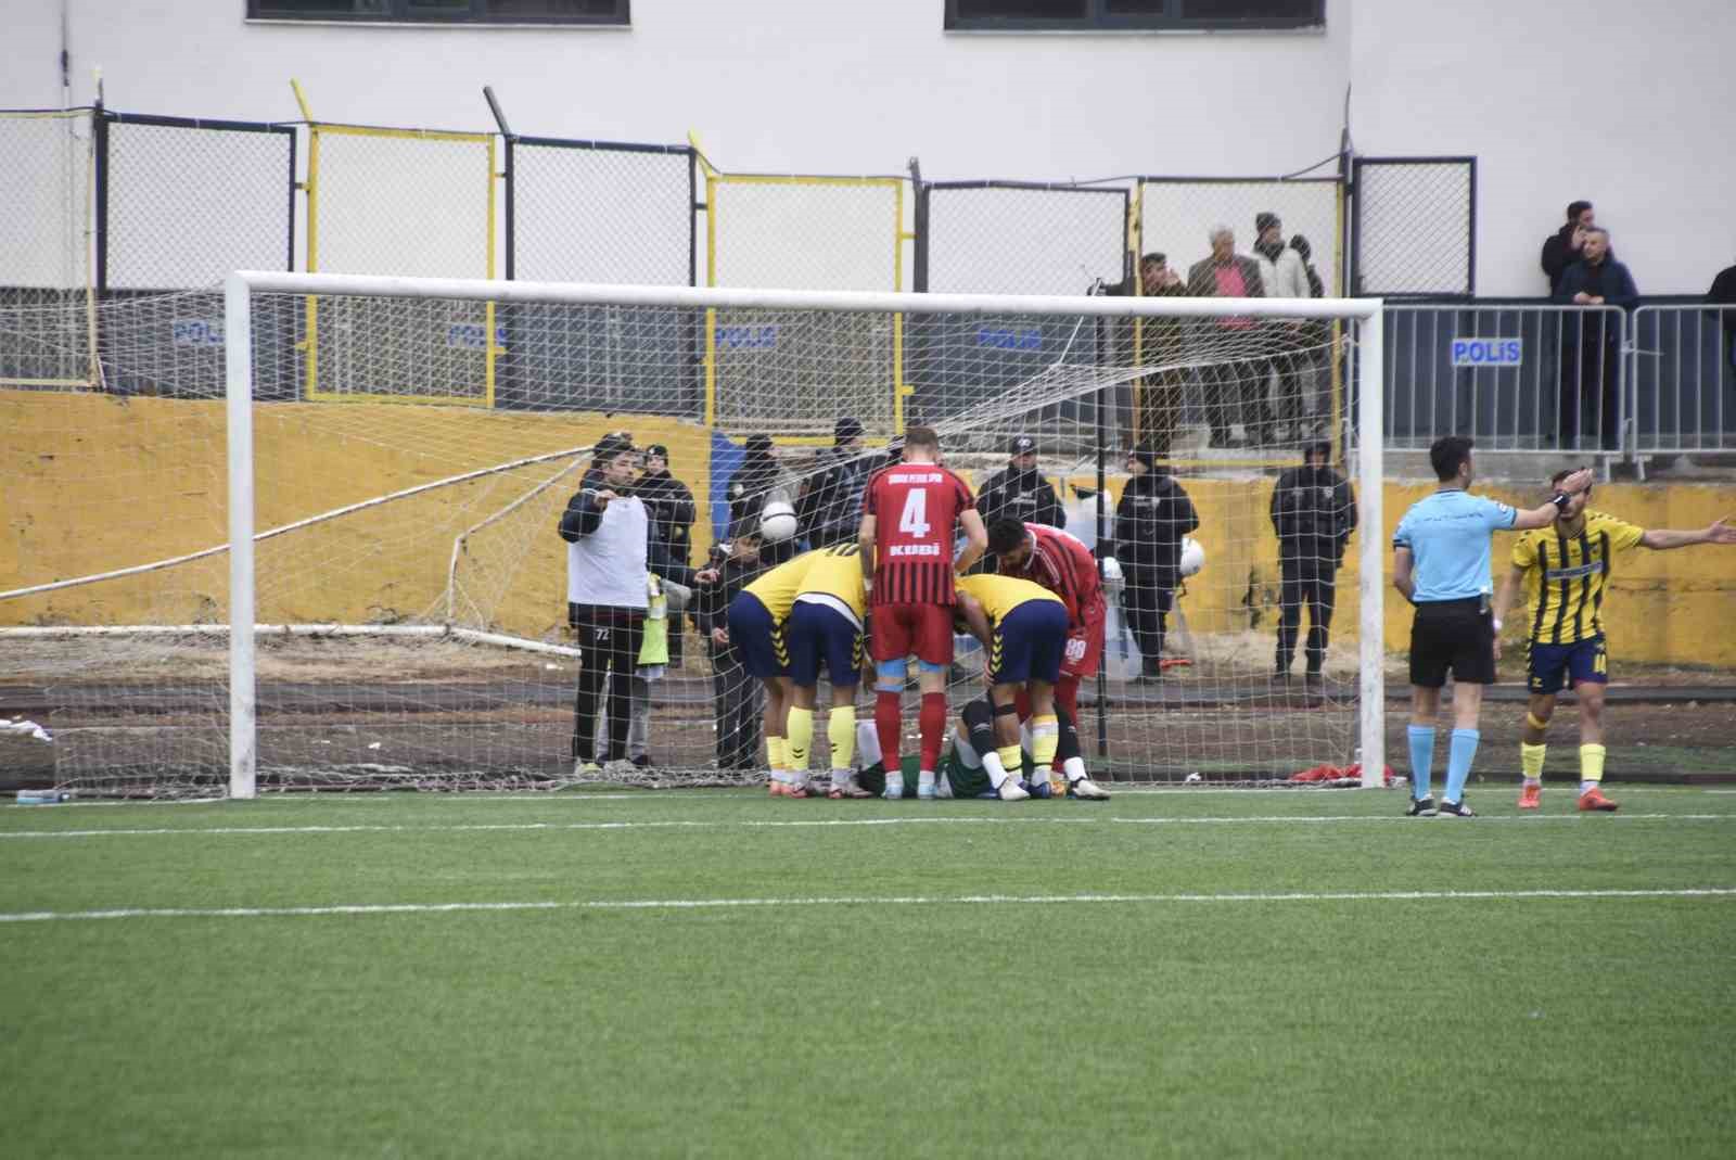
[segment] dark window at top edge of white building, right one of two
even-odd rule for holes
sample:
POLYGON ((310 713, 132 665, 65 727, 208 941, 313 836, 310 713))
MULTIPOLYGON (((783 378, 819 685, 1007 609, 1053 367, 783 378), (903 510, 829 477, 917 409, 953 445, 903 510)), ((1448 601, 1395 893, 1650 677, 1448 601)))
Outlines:
POLYGON ((1323 28, 1326 0, 944 0, 946 28, 1115 31, 1323 28))

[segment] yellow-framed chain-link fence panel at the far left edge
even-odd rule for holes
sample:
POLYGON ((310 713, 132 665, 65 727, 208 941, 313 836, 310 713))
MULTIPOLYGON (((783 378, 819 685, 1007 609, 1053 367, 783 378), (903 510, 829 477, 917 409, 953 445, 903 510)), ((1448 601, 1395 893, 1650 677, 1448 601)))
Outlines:
POLYGON ((0 384, 97 380, 90 109, 0 113, 0 384))

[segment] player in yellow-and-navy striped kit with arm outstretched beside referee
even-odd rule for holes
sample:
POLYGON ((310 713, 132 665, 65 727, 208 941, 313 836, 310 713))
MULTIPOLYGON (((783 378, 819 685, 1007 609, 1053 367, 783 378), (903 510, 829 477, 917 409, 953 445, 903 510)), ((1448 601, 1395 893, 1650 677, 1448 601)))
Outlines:
MULTIPOLYGON (((1568 472, 1550 478, 1559 488, 1568 472)), ((1519 740, 1524 785, 1519 809, 1536 809, 1543 794, 1545 731, 1555 715, 1555 695, 1573 688, 1580 702, 1580 809, 1611 811, 1604 797, 1604 684, 1609 656, 1604 646, 1604 594, 1609 570, 1620 552, 1635 547, 1665 552, 1696 544, 1736 544, 1736 528, 1719 519, 1698 531, 1649 531, 1604 512, 1587 511, 1592 490, 1568 498, 1550 526, 1526 531, 1514 544, 1512 568, 1495 596, 1495 655, 1507 610, 1522 587, 1526 592, 1526 707, 1519 740)))

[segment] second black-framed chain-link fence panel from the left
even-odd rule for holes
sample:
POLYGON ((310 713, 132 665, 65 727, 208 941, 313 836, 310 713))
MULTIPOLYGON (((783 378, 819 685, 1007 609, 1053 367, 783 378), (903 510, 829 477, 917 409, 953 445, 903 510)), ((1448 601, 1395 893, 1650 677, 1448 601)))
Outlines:
MULTIPOLYGON (((507 278, 691 287, 696 167, 689 146, 507 137, 507 278)), ((498 307, 495 406, 700 419, 700 328, 668 318, 628 351, 618 309, 498 307)))

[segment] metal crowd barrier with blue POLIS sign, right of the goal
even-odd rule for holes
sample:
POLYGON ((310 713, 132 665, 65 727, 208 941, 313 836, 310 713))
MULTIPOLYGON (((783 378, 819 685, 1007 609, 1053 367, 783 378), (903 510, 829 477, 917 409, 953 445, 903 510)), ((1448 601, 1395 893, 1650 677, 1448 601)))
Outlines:
POLYGON ((1632 450, 1628 320, 1614 306, 1387 306, 1385 445, 1632 450))

